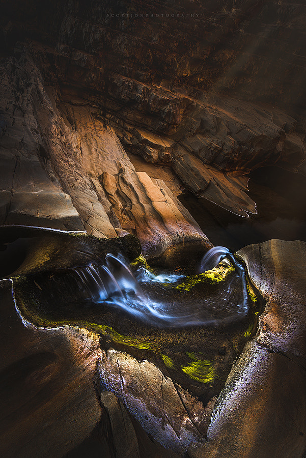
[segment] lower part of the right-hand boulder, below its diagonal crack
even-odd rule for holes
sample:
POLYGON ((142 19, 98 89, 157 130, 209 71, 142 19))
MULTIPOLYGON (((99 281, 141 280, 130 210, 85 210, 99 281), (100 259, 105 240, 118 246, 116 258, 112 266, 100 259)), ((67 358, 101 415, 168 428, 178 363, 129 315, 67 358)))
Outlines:
POLYGON ((190 458, 290 456, 305 449, 305 366, 247 344, 221 392, 208 442, 188 449, 190 458))

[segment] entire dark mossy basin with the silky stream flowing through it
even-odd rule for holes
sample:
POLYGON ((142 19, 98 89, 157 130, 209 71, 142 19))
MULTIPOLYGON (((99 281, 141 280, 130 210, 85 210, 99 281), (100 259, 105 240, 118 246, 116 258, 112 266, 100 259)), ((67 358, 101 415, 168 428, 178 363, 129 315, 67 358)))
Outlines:
POLYGON ((86 329, 102 351, 153 363, 204 405, 218 395, 261 306, 239 255, 217 246, 195 261, 205 246, 184 245, 168 270, 149 266, 131 235, 32 233, 11 277, 24 322, 86 329))

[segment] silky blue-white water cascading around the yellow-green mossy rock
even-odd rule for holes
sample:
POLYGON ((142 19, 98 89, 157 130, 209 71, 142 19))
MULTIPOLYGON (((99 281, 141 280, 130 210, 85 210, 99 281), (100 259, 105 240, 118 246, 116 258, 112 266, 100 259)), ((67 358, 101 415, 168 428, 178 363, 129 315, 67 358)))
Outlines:
POLYGON ((248 311, 243 266, 225 247, 209 250, 201 261, 200 274, 193 276, 155 274, 144 266, 133 274, 112 254, 105 256, 103 265, 92 263, 75 269, 75 273, 80 288, 93 303, 123 310, 154 326, 226 324, 248 311), (214 291, 211 293, 208 285, 206 294, 208 282, 214 291))

